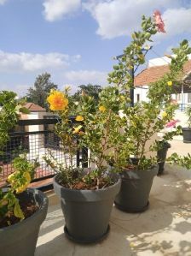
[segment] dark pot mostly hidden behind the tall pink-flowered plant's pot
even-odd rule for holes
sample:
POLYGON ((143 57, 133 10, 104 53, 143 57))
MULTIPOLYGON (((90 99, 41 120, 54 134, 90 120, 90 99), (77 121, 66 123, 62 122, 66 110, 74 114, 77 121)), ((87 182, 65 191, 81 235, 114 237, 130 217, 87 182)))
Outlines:
POLYGON ((157 158, 159 161, 159 171, 158 171, 158 176, 162 175, 164 170, 165 170, 165 159, 166 159, 166 155, 168 152, 168 149, 171 147, 171 144, 166 142, 162 142, 162 148, 157 152, 157 158))

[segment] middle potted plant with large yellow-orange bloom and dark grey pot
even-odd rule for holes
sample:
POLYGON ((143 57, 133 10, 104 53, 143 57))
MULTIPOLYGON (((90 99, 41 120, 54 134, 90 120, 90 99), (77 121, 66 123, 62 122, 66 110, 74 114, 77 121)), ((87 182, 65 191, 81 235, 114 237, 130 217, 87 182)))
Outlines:
MULTIPOLYGON (((107 101, 102 96, 96 104, 94 98, 82 92, 78 104, 73 104, 68 90, 51 91, 47 98, 50 110, 59 116, 55 133, 61 138, 64 161, 58 163, 51 152, 44 159, 57 172, 54 188, 61 198, 65 234, 72 241, 90 243, 108 234, 113 201, 120 188, 115 168, 106 164, 109 149, 116 147, 118 140, 113 140, 119 120, 115 111, 118 96, 108 87, 107 101), (70 113, 74 112, 77 116, 72 123, 70 113), (86 169, 77 167, 74 161, 83 146, 89 148, 86 169)), ((115 154, 117 158, 117 149, 115 154)))

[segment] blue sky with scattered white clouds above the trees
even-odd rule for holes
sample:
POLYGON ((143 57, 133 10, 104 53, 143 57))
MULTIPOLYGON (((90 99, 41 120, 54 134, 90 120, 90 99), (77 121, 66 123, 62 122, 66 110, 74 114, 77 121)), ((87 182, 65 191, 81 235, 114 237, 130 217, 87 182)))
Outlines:
POLYGON ((159 57, 180 40, 191 41, 189 0, 0 0, 0 89, 23 96, 46 71, 72 92, 89 82, 105 85, 113 57, 130 42, 142 14, 154 9, 166 28, 154 38, 159 57))

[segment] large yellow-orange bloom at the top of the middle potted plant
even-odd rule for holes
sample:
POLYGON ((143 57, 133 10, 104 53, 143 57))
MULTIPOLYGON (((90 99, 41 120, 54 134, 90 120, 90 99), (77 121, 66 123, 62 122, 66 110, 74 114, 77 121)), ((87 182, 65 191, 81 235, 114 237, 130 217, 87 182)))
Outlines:
POLYGON ((47 98, 50 110, 65 110, 68 105, 68 99, 63 92, 51 91, 47 98))

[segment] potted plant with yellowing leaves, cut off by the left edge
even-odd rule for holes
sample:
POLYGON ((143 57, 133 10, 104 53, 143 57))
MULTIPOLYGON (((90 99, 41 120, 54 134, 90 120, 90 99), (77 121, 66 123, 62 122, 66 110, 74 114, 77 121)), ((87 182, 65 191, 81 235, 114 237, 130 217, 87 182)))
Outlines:
MULTIPOLYGON (((17 122, 23 109, 15 100, 14 92, 0 92, 0 148, 9 140, 9 129, 17 122)), ((37 161, 30 163, 25 156, 14 159, 14 173, 8 184, 0 188, 0 254, 5 256, 33 256, 38 231, 46 217, 48 199, 40 191, 27 188, 37 161)))

